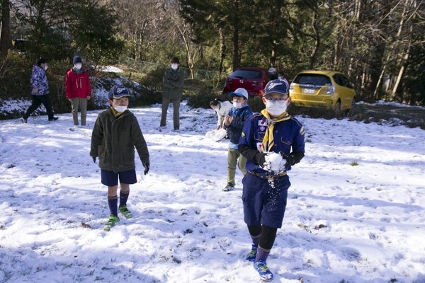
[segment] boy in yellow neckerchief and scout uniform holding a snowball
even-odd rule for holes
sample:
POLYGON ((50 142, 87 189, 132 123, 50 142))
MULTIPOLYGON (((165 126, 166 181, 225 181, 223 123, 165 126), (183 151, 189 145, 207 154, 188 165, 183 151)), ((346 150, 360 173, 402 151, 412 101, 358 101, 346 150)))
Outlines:
POLYGON ((266 259, 282 227, 290 187, 286 173, 304 157, 304 127, 286 112, 286 81, 269 81, 263 103, 266 109, 246 121, 238 149, 248 171, 242 180, 244 221, 252 238, 246 260, 254 262, 261 279, 270 280, 266 259))

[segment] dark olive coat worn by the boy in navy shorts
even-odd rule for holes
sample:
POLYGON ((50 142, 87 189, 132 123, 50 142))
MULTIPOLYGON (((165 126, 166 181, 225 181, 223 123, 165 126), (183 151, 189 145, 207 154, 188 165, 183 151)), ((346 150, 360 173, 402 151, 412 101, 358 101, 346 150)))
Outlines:
POLYGON ((135 169, 135 147, 143 166, 149 164, 149 151, 137 118, 129 110, 115 117, 111 108, 98 115, 91 134, 90 156, 99 158, 106 171, 135 169))

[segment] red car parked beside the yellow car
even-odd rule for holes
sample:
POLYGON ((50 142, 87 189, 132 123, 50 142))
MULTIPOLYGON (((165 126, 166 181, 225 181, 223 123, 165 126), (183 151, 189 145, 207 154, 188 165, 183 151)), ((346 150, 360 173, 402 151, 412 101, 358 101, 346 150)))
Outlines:
POLYGON ((251 96, 261 96, 268 81, 268 69, 263 68, 237 68, 227 77, 223 93, 231 93, 237 88, 245 88, 251 96))

